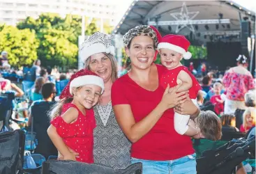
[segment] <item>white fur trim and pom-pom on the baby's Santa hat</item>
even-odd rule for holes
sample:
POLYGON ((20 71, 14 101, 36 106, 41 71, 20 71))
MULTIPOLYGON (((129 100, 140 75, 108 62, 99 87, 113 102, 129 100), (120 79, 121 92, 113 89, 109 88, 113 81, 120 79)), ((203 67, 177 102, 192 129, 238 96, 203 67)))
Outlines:
POLYGON ((170 44, 170 43, 168 43, 168 42, 160 42, 160 43, 158 44, 157 50, 159 51, 159 49, 161 49, 161 48, 171 49, 171 50, 173 50, 174 52, 178 52, 178 53, 182 54, 182 55, 183 55, 183 58, 186 59, 186 60, 190 59, 191 56, 192 56, 192 54, 191 54, 190 52, 186 52, 186 50, 183 49, 182 47, 179 47, 179 46, 177 46, 177 45, 170 44))

